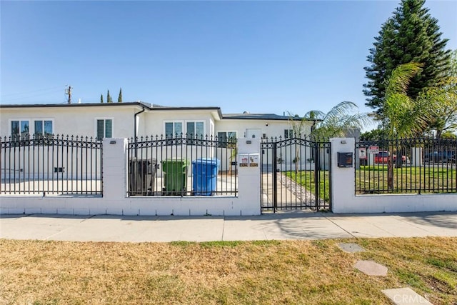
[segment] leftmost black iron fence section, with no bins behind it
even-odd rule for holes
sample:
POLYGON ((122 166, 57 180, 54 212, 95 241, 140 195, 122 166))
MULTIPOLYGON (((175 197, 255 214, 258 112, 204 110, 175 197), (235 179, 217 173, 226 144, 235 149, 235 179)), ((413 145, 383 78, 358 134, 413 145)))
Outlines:
POLYGON ((0 194, 102 194, 102 142, 84 136, 1 139, 0 194))

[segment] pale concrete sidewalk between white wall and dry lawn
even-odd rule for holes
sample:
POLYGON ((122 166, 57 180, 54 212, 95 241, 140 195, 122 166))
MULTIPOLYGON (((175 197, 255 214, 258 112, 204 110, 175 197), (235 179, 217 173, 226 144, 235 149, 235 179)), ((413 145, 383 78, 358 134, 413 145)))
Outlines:
POLYGON ((457 236, 457 213, 261 216, 1 215, 0 238, 59 241, 246 241, 457 236))

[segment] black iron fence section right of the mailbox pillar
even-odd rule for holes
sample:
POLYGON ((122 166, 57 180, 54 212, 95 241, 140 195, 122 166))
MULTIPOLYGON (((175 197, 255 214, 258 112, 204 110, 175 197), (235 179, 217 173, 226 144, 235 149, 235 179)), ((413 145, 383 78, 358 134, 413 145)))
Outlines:
POLYGON ((457 192, 455 139, 356 142, 356 194, 457 192))

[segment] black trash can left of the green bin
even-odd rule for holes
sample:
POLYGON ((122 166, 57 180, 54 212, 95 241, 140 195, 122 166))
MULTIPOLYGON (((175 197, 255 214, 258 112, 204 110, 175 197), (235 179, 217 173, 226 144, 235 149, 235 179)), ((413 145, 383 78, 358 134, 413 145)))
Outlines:
POLYGON ((154 194, 156 159, 131 159, 129 161, 129 195, 154 194))

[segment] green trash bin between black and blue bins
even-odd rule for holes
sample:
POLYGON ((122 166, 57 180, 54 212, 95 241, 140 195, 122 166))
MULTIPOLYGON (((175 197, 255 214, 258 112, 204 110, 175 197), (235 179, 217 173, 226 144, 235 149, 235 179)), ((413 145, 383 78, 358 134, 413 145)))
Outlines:
POLYGON ((161 162, 164 172, 164 195, 186 195, 189 160, 168 159, 161 162))

